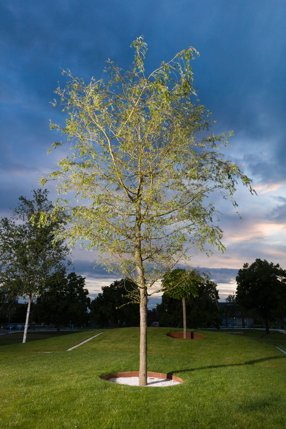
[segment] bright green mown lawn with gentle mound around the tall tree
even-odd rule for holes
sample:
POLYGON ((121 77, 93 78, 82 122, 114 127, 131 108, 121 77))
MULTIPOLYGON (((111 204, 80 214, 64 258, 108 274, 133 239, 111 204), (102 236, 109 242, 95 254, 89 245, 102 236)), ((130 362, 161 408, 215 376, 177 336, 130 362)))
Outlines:
POLYGON ((26 344, 0 336, 0 428, 286 428, 286 355, 275 347, 286 350, 286 335, 196 331, 205 338, 183 340, 172 331, 148 328, 148 370, 184 380, 163 388, 100 378, 138 370, 138 328, 106 330, 69 352, 100 331, 29 332, 26 344))

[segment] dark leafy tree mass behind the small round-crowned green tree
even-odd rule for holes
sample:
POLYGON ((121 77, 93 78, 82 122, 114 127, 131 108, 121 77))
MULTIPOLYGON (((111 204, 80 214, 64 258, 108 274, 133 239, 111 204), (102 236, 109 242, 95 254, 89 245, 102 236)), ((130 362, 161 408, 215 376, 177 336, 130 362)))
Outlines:
MULTIPOLYGON (((186 299, 187 328, 220 327, 222 316, 217 306, 219 294, 217 285, 205 281, 197 287, 197 296, 186 299)), ((157 305, 157 316, 161 317, 162 326, 183 325, 182 304, 178 299, 163 293, 162 303, 157 305)))

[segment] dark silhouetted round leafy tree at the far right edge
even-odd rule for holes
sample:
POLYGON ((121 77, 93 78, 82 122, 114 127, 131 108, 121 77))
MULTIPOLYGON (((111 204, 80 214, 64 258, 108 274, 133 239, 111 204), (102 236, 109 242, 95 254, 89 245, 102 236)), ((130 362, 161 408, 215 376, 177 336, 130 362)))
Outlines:
POLYGON ((256 309, 265 320, 266 334, 269 334, 268 319, 286 305, 286 270, 279 264, 256 259, 251 265, 244 264, 238 271, 238 303, 248 309, 256 309))

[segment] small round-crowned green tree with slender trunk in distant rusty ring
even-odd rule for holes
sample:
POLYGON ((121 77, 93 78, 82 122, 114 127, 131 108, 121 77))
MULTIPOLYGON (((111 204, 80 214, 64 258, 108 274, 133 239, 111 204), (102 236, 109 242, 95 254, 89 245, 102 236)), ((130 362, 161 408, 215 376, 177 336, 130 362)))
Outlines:
POLYGON ((186 271, 176 268, 171 273, 163 276, 163 286, 171 298, 182 299, 184 339, 187 339, 186 298, 196 296, 199 283, 203 281, 196 270, 186 271))

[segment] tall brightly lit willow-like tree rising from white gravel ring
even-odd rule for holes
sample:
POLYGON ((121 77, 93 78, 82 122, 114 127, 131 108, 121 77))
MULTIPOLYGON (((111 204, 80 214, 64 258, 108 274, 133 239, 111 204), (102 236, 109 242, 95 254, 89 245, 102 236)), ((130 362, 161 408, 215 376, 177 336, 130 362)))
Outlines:
MULTIPOLYGON (((133 65, 124 71, 108 60, 106 81, 85 84, 67 70, 65 88, 55 91, 66 112, 59 130, 70 146, 59 170, 54 216, 69 215, 61 234, 70 245, 86 241, 97 263, 132 280, 140 303, 139 384, 147 383, 147 302, 151 287, 190 249, 223 250, 223 231, 212 193, 233 199, 247 178, 220 153, 229 135, 210 133, 210 112, 193 86, 190 47, 151 73, 144 69, 147 45, 132 43, 133 65), (72 197, 65 197, 69 192, 72 197), (75 196, 75 199, 73 199, 75 196)), ((58 148, 63 142, 55 142, 58 148)), ((42 179, 42 184, 47 179, 42 179)), ((46 216, 42 213, 42 222, 46 216)), ((153 292, 152 292, 153 293, 153 292)))

